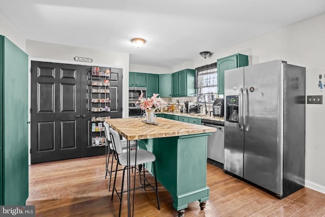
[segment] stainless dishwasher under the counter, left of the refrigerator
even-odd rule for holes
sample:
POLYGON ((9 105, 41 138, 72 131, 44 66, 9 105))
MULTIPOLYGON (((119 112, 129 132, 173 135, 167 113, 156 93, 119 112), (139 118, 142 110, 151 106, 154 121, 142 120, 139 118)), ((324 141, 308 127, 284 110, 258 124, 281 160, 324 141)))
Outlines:
POLYGON ((224 156, 224 121, 202 119, 202 125, 217 128, 208 136, 207 162, 223 169, 224 156))

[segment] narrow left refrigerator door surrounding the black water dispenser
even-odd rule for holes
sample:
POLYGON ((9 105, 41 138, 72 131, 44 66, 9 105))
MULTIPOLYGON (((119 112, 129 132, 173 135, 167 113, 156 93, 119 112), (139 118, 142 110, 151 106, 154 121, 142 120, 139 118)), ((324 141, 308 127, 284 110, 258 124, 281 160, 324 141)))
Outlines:
MULTIPOLYGON (((244 86, 244 68, 228 70, 224 79, 225 117, 230 115, 226 107, 227 96, 238 96, 244 86)), ((239 105, 240 106, 240 105, 239 105)), ((224 164, 223 169, 243 177, 244 131, 238 122, 224 121, 224 164)))

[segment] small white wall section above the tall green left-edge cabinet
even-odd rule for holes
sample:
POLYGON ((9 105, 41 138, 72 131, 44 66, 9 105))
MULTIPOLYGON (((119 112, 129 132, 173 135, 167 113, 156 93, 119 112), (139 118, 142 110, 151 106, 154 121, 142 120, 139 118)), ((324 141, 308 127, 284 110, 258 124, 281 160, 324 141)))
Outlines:
POLYGON ((0 13, 0 35, 6 36, 20 49, 26 51, 26 39, 18 32, 16 27, 13 26, 2 13, 0 13))

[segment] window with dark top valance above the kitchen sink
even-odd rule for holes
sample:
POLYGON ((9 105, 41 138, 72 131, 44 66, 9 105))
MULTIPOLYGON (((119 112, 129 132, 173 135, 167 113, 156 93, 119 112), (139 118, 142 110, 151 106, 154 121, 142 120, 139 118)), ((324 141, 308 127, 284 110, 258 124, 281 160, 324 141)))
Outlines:
POLYGON ((196 68, 197 93, 207 94, 217 92, 217 63, 196 68))

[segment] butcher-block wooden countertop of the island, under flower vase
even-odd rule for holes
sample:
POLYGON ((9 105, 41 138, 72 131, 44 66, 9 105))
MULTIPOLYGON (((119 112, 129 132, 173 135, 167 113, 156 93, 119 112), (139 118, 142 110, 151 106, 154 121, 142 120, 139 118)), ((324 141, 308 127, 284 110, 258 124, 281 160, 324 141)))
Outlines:
POLYGON ((215 132, 216 128, 157 117, 158 125, 143 123, 143 118, 111 118, 107 123, 127 140, 173 137, 215 132))

